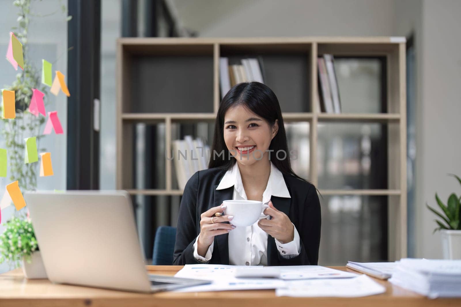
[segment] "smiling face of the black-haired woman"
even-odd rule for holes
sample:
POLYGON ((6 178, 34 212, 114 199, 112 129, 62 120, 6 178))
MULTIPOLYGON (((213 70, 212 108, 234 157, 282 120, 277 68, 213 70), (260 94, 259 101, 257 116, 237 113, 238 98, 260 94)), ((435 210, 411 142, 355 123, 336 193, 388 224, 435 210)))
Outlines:
POLYGON ((277 130, 278 120, 271 127, 264 118, 242 105, 230 108, 224 117, 226 147, 238 163, 243 165, 267 159, 266 150, 269 149, 277 130))

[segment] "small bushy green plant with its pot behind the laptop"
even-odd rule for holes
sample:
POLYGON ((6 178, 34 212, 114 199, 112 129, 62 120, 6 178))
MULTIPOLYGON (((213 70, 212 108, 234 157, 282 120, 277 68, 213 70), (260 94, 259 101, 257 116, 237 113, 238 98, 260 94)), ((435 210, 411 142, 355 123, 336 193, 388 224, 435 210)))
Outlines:
POLYGON ((0 235, 0 263, 9 262, 15 268, 22 262, 26 278, 47 278, 30 219, 13 216, 5 227, 0 235))

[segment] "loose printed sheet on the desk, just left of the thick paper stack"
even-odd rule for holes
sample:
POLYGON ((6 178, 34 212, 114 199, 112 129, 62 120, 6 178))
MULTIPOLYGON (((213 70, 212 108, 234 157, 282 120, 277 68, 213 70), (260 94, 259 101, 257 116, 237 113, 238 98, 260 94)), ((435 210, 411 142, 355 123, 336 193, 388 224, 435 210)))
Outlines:
POLYGON ((384 293, 384 286, 366 275, 342 279, 311 279, 285 282, 275 290, 277 296, 360 297, 384 293))

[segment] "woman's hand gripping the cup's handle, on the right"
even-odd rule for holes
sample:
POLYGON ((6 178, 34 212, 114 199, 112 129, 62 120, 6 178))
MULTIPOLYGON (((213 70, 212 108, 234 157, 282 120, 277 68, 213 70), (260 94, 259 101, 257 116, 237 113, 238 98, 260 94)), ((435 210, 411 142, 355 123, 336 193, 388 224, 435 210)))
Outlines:
POLYGON ((272 216, 272 219, 260 219, 258 226, 267 234, 273 236, 282 244, 291 242, 295 238, 295 227, 290 221, 290 218, 278 211, 272 201, 269 201, 269 208, 264 210, 264 214, 272 216))

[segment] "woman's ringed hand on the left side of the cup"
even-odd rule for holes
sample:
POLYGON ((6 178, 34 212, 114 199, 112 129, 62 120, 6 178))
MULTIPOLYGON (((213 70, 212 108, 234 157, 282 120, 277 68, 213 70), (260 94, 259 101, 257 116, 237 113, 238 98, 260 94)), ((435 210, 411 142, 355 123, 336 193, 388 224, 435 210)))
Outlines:
POLYGON ((210 208, 208 211, 200 215, 200 236, 197 242, 197 253, 205 257, 207 250, 213 243, 214 236, 223 235, 233 230, 236 226, 225 224, 223 222, 230 222, 231 215, 214 216, 215 213, 222 213, 226 208, 224 204, 221 206, 210 208), (214 222, 214 223, 213 223, 214 222))

